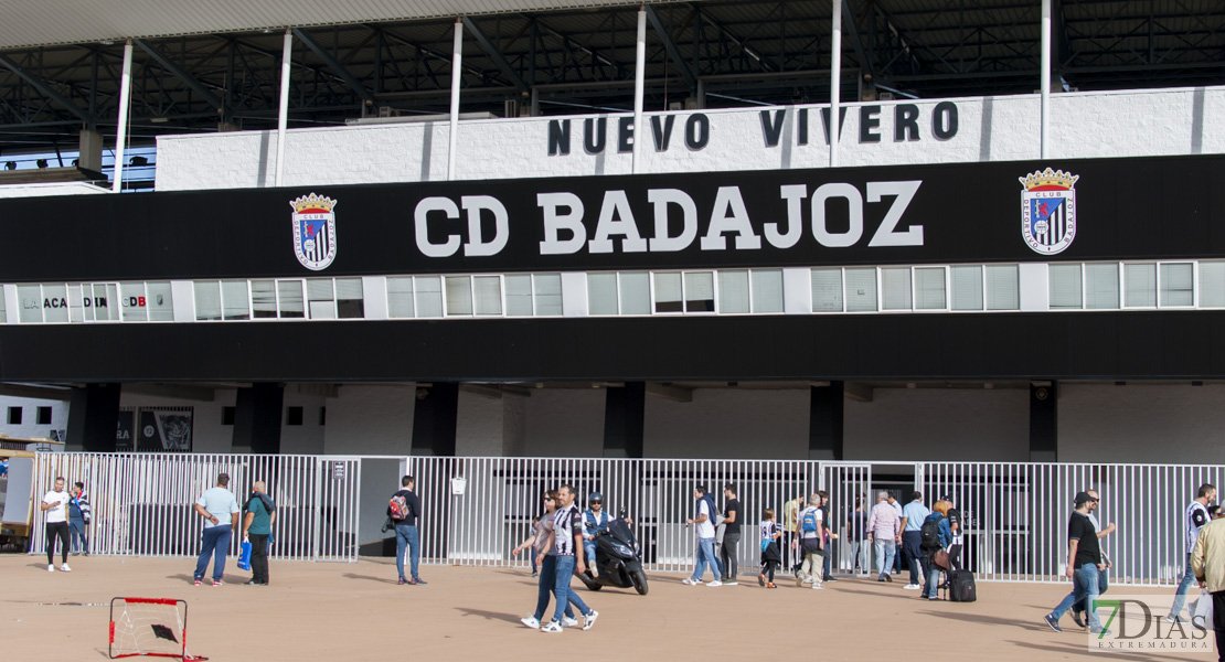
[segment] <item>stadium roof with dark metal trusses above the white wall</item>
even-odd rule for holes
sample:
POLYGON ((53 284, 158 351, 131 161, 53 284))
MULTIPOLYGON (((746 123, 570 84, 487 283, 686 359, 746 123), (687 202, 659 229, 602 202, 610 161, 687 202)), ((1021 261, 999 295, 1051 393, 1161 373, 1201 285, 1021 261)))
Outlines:
MULTIPOLYGON (((843 100, 1039 87, 1039 0, 838 1, 843 100)), ((647 110, 829 99, 829 0, 647 7, 647 110)), ((457 16, 463 111, 628 110, 637 12, 635 2, 595 0, 7 0, 0 162, 75 148, 87 127, 113 143, 124 39, 136 46, 135 143, 274 127, 287 27, 294 35, 290 127, 446 113, 457 16)), ((1225 82, 1220 0, 1054 0, 1052 23, 1061 88, 1225 82)))

